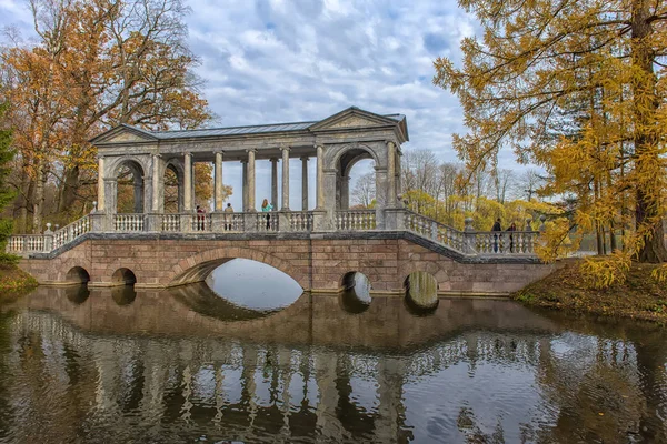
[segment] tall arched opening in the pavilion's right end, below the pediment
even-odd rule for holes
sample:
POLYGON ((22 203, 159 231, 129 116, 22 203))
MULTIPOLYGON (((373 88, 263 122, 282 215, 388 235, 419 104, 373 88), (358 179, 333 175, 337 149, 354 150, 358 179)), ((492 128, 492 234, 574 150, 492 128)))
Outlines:
POLYGON ((339 159, 336 176, 336 209, 367 210, 376 203, 376 162, 370 152, 355 148, 339 159))

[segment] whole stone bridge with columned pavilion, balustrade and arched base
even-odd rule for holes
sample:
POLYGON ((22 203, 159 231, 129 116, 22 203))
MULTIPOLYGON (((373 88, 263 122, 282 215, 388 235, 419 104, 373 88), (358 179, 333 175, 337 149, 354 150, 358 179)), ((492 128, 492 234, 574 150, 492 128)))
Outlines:
POLYGON ((350 272, 374 291, 401 292, 406 278, 427 272, 442 294, 507 294, 548 274, 535 255, 539 232, 464 231, 401 202, 401 144, 406 118, 349 108, 321 121, 149 132, 129 125, 92 140, 98 148, 98 202, 90 214, 41 234, 14 235, 8 252, 41 284, 132 283, 169 287, 201 282, 231 259, 259 261, 303 290, 335 292, 350 272), (301 202, 290 203, 290 159, 301 161, 301 202), (315 158, 315 206, 308 162, 315 158), (349 208, 351 168, 375 163, 376 206, 349 208), (275 211, 258 212, 256 163, 271 163, 275 211), (213 164, 195 178, 195 164, 213 164), (223 165, 242 165, 242 211, 223 211, 223 165), (281 173, 278 172, 278 163, 281 173), (167 212, 165 178, 178 182, 178 209, 167 212), (119 178, 131 175, 133 213, 118 212, 119 178), (280 179, 280 186, 279 186, 280 179), (212 180, 212 211, 195 211, 195 183, 212 180), (280 188, 280 196, 278 191, 280 188), (297 206, 299 209, 297 210, 297 206))

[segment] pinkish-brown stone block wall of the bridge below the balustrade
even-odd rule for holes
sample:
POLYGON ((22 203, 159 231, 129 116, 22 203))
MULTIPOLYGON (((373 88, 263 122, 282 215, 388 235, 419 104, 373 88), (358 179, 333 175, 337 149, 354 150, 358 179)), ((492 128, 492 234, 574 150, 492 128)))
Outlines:
POLYGON ((91 286, 120 284, 115 273, 129 269, 137 278, 137 287, 166 287, 200 282, 226 261, 243 258, 281 270, 307 291, 338 291, 342 276, 357 271, 369 279, 374 291, 400 292, 408 274, 425 271, 437 279, 442 294, 507 294, 554 270, 554 265, 521 263, 516 258, 460 262, 396 233, 367 238, 109 239, 91 234, 68 251, 23 260, 21 268, 42 284, 58 284, 67 283, 68 272, 80 266, 89 273, 91 286))

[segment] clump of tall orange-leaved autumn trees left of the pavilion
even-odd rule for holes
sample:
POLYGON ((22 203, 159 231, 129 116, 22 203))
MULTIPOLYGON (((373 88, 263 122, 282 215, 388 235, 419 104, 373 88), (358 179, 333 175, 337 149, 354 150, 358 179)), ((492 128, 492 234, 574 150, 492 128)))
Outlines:
POLYGON ((118 123, 189 129, 210 120, 198 61, 187 47, 180 0, 30 0, 36 46, 2 51, 2 95, 11 99, 21 178, 21 229, 42 218, 43 182, 58 186, 71 218, 94 199, 96 151, 88 143, 118 123))

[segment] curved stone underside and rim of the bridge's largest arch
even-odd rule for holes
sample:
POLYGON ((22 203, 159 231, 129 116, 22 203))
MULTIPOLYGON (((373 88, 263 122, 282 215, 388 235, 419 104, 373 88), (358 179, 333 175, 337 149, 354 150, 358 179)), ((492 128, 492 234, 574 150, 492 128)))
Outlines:
POLYGON ((301 289, 310 289, 307 273, 300 272, 283 259, 247 248, 212 249, 182 259, 165 281, 168 286, 202 282, 213 270, 232 259, 249 259, 270 265, 297 281, 301 289))

